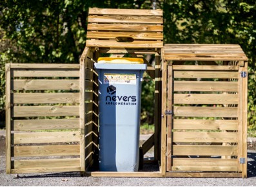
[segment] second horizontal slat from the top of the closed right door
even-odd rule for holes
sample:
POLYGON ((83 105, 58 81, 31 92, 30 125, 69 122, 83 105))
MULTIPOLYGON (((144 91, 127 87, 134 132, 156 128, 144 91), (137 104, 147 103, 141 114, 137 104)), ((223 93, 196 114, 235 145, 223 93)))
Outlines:
POLYGON ((236 71, 173 71, 174 78, 238 78, 236 71))

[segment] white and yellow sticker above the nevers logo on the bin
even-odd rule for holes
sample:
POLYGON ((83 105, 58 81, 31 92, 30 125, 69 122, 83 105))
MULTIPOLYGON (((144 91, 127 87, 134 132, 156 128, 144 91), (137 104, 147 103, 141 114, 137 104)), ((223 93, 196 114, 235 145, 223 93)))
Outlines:
POLYGON ((104 73, 104 84, 136 84, 136 75, 104 73))

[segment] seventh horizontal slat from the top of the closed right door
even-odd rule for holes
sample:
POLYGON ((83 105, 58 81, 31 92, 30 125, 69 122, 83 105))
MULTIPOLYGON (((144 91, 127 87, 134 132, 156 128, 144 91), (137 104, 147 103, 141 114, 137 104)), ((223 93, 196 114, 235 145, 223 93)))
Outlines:
POLYGON ((173 142, 237 143, 237 132, 173 132, 173 142))

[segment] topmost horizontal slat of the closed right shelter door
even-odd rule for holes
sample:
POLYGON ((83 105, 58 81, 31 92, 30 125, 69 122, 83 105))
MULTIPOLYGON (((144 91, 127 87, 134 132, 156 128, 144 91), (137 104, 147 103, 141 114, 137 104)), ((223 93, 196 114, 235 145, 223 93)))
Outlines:
POLYGON ((239 66, 195 66, 195 65, 173 65, 173 70, 217 70, 217 71, 237 71, 239 66))

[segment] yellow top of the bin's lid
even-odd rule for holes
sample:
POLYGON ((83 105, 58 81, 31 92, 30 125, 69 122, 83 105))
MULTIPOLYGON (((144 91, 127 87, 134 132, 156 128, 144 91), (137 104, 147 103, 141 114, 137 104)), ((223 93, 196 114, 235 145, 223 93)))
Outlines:
POLYGON ((106 64, 143 64, 143 58, 112 58, 112 57, 99 57, 98 63, 106 64))

